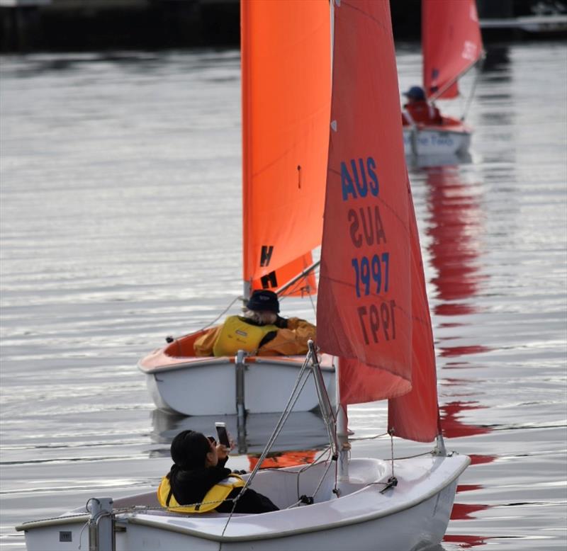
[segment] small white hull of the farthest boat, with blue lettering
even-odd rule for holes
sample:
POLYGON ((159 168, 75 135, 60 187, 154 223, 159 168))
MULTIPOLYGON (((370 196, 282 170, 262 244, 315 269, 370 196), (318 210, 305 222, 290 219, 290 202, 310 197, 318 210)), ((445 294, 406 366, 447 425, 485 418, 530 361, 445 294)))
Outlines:
POLYGON ((454 155, 468 152, 472 130, 466 125, 404 127, 406 155, 454 155))

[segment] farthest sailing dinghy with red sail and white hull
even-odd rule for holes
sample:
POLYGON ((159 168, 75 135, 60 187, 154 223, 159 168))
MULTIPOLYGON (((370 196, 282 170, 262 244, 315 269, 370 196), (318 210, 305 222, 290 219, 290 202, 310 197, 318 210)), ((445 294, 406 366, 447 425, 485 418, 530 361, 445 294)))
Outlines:
MULTIPOLYGON (((476 0, 422 0, 423 90, 427 101, 459 96, 458 81, 483 57, 476 0)), ((472 94, 471 94, 472 95, 472 94)), ((406 154, 468 151, 472 128, 443 116, 441 125, 404 126, 406 154)))

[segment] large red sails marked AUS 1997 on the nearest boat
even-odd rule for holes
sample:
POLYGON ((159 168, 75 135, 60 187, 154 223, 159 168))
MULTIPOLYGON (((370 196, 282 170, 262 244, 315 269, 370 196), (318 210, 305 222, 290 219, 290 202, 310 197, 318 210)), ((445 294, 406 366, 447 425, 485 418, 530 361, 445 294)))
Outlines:
POLYGON ((405 394, 395 434, 432 441, 437 380, 388 2, 342 0, 334 44, 318 346, 341 358, 342 404, 405 394))

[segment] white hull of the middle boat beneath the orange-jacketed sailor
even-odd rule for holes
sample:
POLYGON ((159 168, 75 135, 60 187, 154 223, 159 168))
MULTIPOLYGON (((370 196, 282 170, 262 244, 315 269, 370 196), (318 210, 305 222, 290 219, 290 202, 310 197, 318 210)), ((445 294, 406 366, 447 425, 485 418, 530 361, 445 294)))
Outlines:
MULTIPOLYGON (((146 375, 150 395, 159 409, 182 415, 237 414, 237 377, 234 358, 192 358, 179 363, 138 368, 146 375)), ((246 358, 245 409, 251 414, 281 413, 301 370, 304 356, 246 358)), ((335 396, 332 360, 323 360, 323 379, 330 397, 335 396)), ((293 411, 310 411, 319 401, 314 385, 305 385, 293 411)))

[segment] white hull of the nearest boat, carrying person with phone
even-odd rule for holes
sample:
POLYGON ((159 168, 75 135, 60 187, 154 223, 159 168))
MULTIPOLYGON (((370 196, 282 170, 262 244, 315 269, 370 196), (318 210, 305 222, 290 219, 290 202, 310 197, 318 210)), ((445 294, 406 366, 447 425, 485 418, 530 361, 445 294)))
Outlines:
MULTIPOLYGON (((384 489, 391 462, 354 459, 349 482, 339 484, 325 463, 261 471, 252 488, 268 495, 280 511, 260 515, 206 513, 181 515, 131 509, 116 513, 116 550, 337 550, 408 551, 439 543, 453 506, 456 484, 470 460, 464 455, 420 456, 395 460, 396 487, 384 489), (296 474, 294 476, 293 474, 296 474), (322 484, 317 492, 321 477, 322 484), (295 504, 302 494, 312 505, 295 504)), ((155 494, 116 500, 115 509, 156 506, 155 494)), ((80 514, 81 511, 74 511, 80 514)), ((69 513, 72 514, 72 513, 69 513)), ((34 521, 18 526, 26 532, 28 551, 88 548, 86 516, 34 521), (60 543, 61 534, 64 541, 60 543)))

